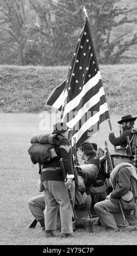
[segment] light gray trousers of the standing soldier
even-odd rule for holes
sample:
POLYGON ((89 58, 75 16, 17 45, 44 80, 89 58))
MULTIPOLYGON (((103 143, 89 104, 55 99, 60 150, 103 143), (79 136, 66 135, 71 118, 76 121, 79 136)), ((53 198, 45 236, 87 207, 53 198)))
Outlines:
MULTIPOLYGON (((45 230, 56 230, 57 211, 60 206, 61 233, 73 233, 73 210, 69 194, 63 181, 44 180, 42 181, 45 197, 45 230)), ((71 197, 74 198, 74 181, 70 187, 71 197)))

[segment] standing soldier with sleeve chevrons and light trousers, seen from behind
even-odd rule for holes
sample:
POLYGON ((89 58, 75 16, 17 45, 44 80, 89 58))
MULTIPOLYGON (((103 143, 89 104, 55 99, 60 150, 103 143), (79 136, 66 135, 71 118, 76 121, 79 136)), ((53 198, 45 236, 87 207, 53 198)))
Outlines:
POLYGON ((71 145, 68 140, 68 127, 66 123, 58 122, 54 125, 54 133, 60 135, 61 141, 55 146, 57 157, 51 162, 44 164, 41 171, 41 182, 44 187, 45 197, 45 233, 47 236, 55 236, 57 224, 57 211, 60 205, 61 233, 63 237, 73 233, 73 211, 70 204, 67 188, 70 188, 71 197, 74 198, 74 166, 71 155, 71 145), (60 158, 63 159, 66 170, 67 182, 64 179, 60 167, 60 158))

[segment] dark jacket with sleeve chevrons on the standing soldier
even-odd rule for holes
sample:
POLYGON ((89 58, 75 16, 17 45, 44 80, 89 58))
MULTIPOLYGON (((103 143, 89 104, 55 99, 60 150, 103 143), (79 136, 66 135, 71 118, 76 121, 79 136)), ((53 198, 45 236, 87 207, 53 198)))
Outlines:
POLYGON ((61 142, 58 145, 55 145, 55 151, 57 153, 57 157, 53 159, 51 162, 44 164, 42 169, 49 168, 44 172, 41 172, 41 181, 42 180, 60 180, 64 181, 62 170, 60 168, 60 158, 62 157, 64 163, 64 169, 67 174, 74 174, 73 169, 73 159, 71 153, 71 145, 67 138, 62 136, 61 142))

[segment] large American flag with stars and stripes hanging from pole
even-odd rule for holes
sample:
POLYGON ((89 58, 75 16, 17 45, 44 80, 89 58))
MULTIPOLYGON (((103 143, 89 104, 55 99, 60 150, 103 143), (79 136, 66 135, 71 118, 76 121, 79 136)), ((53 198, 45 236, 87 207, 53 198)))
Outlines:
POLYGON ((71 127, 72 142, 75 137, 77 147, 109 118, 88 19, 78 39, 67 79, 51 92, 46 104, 62 110, 62 120, 71 127))

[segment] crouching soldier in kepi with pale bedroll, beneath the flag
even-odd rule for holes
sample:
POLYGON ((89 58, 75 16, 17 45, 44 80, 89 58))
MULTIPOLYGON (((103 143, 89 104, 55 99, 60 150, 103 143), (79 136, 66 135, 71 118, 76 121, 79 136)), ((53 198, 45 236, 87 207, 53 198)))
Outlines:
POLYGON ((77 166, 80 175, 84 175, 84 182, 87 194, 92 197, 92 206, 90 212, 96 216, 94 204, 104 200, 107 196, 107 187, 104 178, 104 170, 99 158, 96 156, 96 143, 84 142, 80 145, 79 155, 86 162, 81 166, 77 166))

